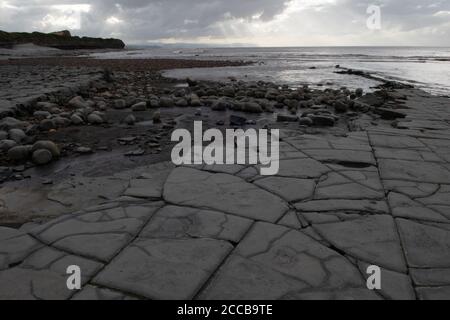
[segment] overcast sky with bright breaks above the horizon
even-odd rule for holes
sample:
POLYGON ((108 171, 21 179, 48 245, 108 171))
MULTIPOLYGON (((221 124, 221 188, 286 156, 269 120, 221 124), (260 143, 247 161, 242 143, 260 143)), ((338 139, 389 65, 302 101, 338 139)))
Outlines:
POLYGON ((128 44, 450 46, 450 0, 0 0, 0 29, 128 44), (367 26, 371 5, 380 29, 367 26))

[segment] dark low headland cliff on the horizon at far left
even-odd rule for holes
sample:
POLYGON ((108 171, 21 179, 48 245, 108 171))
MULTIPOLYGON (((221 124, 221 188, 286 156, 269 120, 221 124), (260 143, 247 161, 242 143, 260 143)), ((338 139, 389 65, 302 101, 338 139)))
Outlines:
POLYGON ((125 47, 125 43, 120 39, 72 37, 67 30, 53 33, 4 32, 0 30, 0 47, 12 47, 23 43, 63 50, 123 49, 125 47))

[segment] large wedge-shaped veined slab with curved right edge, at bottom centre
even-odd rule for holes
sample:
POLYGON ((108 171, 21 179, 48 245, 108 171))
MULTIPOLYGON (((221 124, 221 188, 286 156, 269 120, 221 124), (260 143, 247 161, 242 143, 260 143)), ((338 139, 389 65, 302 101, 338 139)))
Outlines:
POLYGON ((200 298, 295 299, 335 291, 378 298, 368 290, 361 294, 363 288, 358 269, 335 251, 299 231, 257 223, 200 298))

